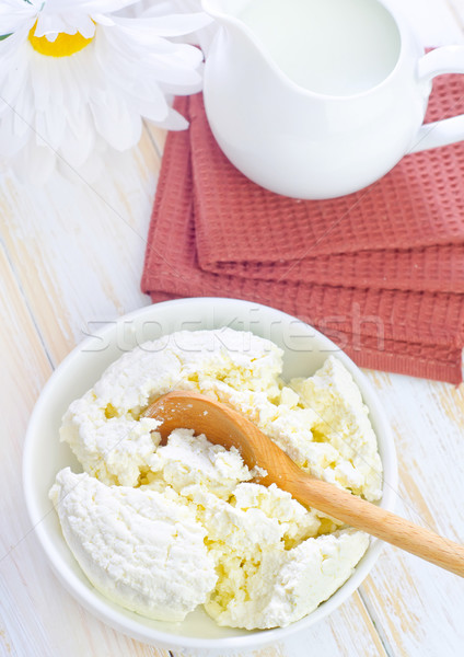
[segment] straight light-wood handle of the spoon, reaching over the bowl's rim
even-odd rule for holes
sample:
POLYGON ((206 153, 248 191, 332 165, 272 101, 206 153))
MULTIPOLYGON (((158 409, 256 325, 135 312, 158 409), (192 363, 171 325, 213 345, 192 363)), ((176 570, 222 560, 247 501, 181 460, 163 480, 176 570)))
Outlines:
POLYGON ((290 485, 286 485, 286 488, 304 506, 316 508, 464 577, 464 545, 440 537, 333 484, 308 475, 301 476, 300 472, 294 473, 291 482, 287 480, 286 484, 290 485))

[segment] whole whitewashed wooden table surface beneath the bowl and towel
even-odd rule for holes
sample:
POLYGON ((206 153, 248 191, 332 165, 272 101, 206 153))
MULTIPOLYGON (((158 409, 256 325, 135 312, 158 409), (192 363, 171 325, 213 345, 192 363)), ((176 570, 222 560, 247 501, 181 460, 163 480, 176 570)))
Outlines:
MULTIPOLYGON (((425 45, 464 43, 464 0, 395 1, 425 45)), ((61 588, 31 531, 21 484, 27 419, 53 369, 96 323, 149 303, 139 285, 163 137, 147 128, 94 185, 56 177, 32 189, 0 178, 1 656, 167 657, 105 626, 61 588)), ((368 376, 396 436, 398 512, 464 542, 464 385, 368 376)), ((385 546, 338 611, 254 656, 309 654, 462 656, 464 583, 385 546)))

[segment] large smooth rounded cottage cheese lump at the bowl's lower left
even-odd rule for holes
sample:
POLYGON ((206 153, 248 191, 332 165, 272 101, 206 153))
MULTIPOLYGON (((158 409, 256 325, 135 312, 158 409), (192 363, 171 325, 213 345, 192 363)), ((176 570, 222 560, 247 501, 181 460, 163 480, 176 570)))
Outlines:
POLYGON ((182 621, 218 577, 192 510, 155 491, 106 486, 69 468, 50 498, 63 535, 92 584, 146 616, 182 621))

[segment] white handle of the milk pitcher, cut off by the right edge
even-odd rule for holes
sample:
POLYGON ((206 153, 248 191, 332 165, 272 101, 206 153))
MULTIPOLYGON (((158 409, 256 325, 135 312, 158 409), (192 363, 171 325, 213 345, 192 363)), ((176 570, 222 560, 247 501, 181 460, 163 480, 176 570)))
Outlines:
MULTIPOLYGON (((464 46, 444 46, 430 50, 418 62, 421 82, 430 82, 443 73, 464 73, 464 46)), ((464 96, 463 96, 464 105, 464 96)), ((448 146, 464 140, 464 114, 420 126, 409 153, 448 146)))

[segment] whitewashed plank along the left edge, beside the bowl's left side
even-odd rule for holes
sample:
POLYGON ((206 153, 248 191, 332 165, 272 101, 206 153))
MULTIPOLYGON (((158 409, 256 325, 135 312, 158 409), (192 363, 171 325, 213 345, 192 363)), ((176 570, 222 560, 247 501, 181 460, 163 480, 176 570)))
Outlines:
POLYGON ((0 279, 0 654, 169 657, 83 610, 56 580, 42 553, 24 506, 21 460, 27 419, 51 364, 3 246, 0 279))

